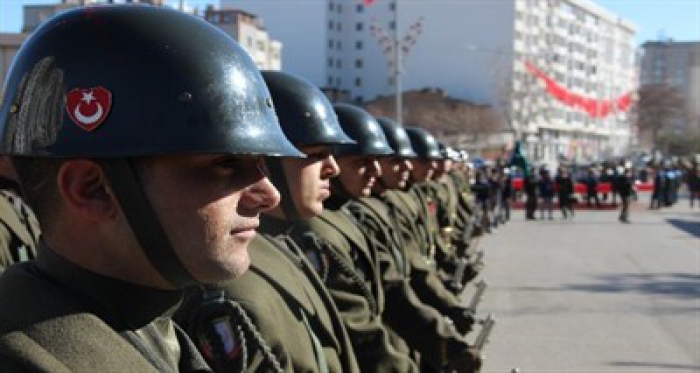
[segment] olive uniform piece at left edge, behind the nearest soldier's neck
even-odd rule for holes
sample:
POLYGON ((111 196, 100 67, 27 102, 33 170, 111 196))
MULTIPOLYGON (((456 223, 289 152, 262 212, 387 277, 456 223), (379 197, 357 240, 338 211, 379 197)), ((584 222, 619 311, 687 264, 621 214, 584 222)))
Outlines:
POLYGON ((39 222, 25 203, 8 156, 0 156, 0 272, 36 257, 41 237, 39 222))

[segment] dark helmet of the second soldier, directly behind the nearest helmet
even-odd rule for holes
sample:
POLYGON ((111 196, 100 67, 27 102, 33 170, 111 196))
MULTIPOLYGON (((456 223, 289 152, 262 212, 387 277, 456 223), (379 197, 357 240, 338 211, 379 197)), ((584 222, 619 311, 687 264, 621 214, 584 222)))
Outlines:
POLYGON ((338 124, 333 106, 313 84, 281 71, 263 71, 280 125, 296 146, 354 144, 338 124))

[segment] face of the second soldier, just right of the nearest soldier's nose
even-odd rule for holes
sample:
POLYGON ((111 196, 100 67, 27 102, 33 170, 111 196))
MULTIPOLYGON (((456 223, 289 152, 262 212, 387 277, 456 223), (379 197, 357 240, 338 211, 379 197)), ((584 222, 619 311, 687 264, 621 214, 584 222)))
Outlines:
POLYGON ((301 147, 306 158, 282 160, 294 207, 299 216, 310 218, 323 212, 323 201, 331 195, 330 179, 340 168, 324 145, 301 147))

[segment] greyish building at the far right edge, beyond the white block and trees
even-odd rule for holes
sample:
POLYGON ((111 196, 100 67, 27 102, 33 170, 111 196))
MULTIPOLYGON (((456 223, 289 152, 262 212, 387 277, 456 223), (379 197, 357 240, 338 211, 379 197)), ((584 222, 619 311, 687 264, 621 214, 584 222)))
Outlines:
POLYGON ((685 113, 673 120, 677 134, 700 134, 700 41, 651 41, 642 44, 640 82, 675 87, 685 113))

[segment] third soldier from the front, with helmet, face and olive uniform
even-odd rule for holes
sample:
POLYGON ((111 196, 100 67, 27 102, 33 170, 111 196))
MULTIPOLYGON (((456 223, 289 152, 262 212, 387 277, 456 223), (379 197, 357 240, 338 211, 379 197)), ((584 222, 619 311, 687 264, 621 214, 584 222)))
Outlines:
POLYGON ((386 304, 379 253, 371 250, 358 222, 346 211, 350 201, 369 195, 377 182, 376 157, 393 151, 367 112, 343 104, 336 105, 335 111, 357 144, 337 147, 340 176, 331 182, 323 213, 308 221, 308 231, 301 237, 303 247, 307 255, 324 258, 317 262, 326 264, 321 273, 343 316, 361 371, 417 372, 408 346, 392 339, 383 322, 386 304), (350 128, 349 121, 366 126, 350 128))

